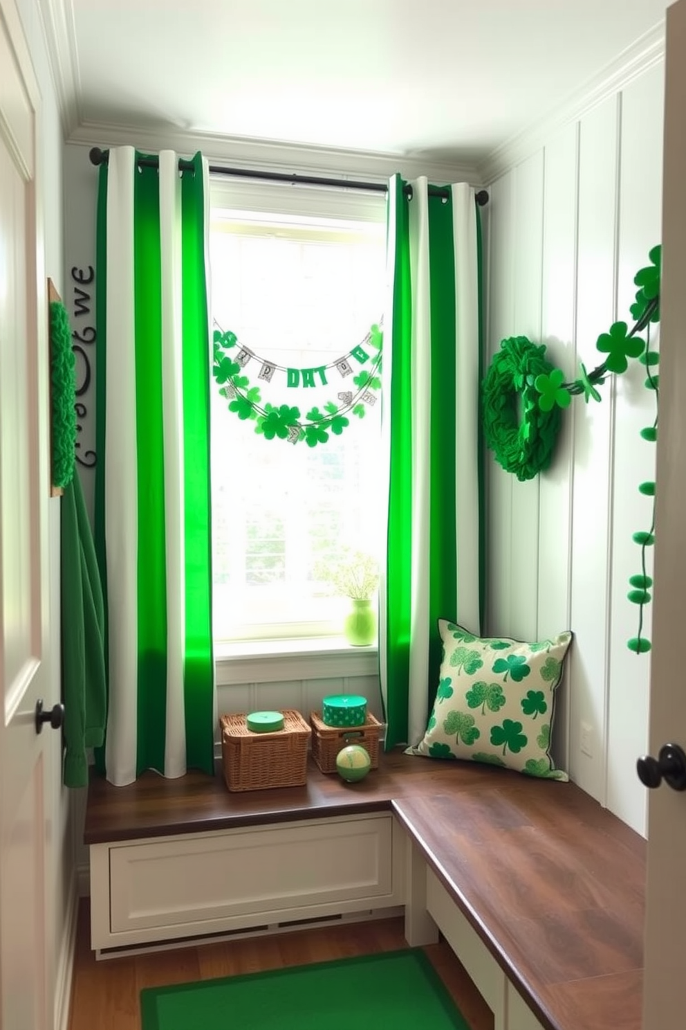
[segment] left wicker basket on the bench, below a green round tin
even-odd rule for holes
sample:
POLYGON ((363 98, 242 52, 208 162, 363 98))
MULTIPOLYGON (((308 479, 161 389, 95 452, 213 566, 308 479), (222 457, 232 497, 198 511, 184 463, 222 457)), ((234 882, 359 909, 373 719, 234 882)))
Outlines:
POLYGON ((221 757, 231 791, 300 787, 308 780, 308 744, 312 730, 299 712, 285 709, 284 728, 254 733, 245 715, 222 715, 221 757))

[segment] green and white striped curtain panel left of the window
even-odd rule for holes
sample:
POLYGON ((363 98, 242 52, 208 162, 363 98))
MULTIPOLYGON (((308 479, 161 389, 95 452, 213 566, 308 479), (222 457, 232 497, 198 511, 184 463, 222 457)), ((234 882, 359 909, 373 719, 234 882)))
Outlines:
POLYGON ((107 779, 214 769, 208 165, 101 166, 96 546, 107 779))

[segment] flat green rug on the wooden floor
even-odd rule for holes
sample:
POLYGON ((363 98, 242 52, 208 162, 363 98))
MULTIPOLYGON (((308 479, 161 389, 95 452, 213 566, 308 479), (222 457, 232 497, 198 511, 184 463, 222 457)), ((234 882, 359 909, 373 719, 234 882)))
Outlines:
POLYGON ((421 949, 141 991, 143 1030, 469 1030, 421 949))

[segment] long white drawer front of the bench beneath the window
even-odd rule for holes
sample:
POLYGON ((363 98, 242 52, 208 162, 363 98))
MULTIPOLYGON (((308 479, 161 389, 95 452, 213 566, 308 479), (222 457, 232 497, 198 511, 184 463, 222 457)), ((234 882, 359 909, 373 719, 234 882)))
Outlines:
POLYGON ((109 848, 110 930, 202 923, 390 895, 392 817, 109 848))

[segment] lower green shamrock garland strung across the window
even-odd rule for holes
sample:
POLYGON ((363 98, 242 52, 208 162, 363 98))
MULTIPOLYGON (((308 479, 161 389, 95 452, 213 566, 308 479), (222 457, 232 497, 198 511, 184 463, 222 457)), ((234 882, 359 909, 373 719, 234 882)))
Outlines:
MULTIPOLYGON (((214 332, 214 350, 212 374, 219 386, 219 392, 228 401, 228 410, 242 420, 255 421, 255 433, 261 434, 265 440, 288 440, 296 444, 304 440, 309 447, 325 444, 329 434, 340 436, 350 425, 348 414, 352 413, 363 418, 366 405, 374 404, 372 391, 380 390, 382 385, 382 349, 384 334, 380 325, 372 325, 363 343, 372 347, 376 353, 372 356, 368 369, 362 369, 353 376, 355 390, 342 390, 338 393, 339 404, 328 401, 324 411, 315 406, 306 412, 304 418, 300 409, 289 404, 274 405, 268 402, 262 406, 260 387, 251 385, 245 374, 245 367, 240 360, 234 360, 227 351, 239 343, 238 337, 231 332, 214 332)), ((366 363, 369 355, 362 344, 351 351, 358 362, 366 363)), ((325 380, 324 380, 325 381, 325 380)))

